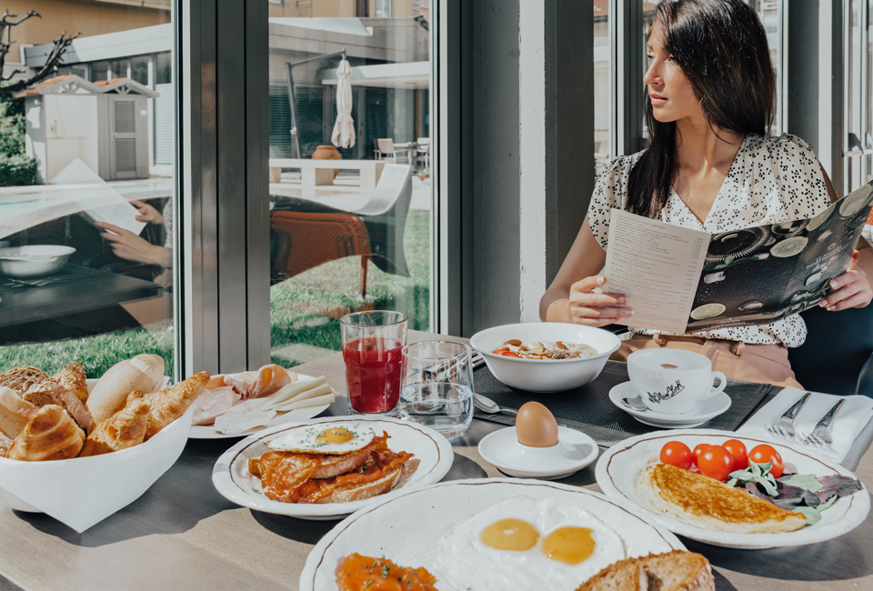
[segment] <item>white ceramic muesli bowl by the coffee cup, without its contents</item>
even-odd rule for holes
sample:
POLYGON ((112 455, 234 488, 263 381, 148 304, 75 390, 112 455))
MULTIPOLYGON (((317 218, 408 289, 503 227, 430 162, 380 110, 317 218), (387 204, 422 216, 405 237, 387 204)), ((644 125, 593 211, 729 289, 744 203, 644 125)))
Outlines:
POLYGON ((593 326, 530 322, 487 328, 474 335, 470 344, 485 357, 491 373, 507 386, 529 392, 561 392, 585 386, 599 376, 621 341, 609 331, 593 326), (492 353, 512 338, 584 343, 597 349, 597 355, 577 359, 521 359, 492 353))

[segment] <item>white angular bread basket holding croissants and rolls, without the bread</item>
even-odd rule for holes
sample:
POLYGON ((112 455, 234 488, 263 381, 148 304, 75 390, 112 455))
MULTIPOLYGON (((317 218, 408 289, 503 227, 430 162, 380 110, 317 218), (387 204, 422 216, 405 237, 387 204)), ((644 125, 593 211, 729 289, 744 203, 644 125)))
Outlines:
MULTIPOLYGON (((88 380, 88 389, 96 380, 88 380)), ((81 533, 133 503, 185 448, 194 406, 148 441, 100 456, 24 462, 0 457, 0 506, 45 513, 81 533)))

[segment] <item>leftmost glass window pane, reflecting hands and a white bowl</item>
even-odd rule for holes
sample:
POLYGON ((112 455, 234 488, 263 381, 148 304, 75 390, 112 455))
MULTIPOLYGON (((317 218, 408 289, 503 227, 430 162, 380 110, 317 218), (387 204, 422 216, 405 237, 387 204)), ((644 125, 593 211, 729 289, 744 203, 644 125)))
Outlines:
MULTIPOLYGON (((65 11, 43 11, 38 29, 13 29, 13 41, 47 49, 70 30, 71 11, 78 11, 72 16, 81 35, 70 55, 93 61, 63 65, 58 74, 91 82, 132 75, 147 85, 151 56, 119 55, 125 47, 105 35, 127 32, 133 46, 145 35, 138 29, 154 34, 159 15, 164 25, 158 26, 166 28, 161 43, 169 50, 169 8, 69 4, 65 11)), ((43 65, 46 53, 27 55, 25 75, 43 65)), ((175 137, 169 82, 167 75, 157 92, 81 83, 70 93, 63 86, 76 80, 55 77, 0 96, 0 128, 10 131, 0 137, 0 248, 53 257, 0 266, 0 372, 36 366, 53 374, 77 361, 88 377, 99 377, 118 361, 155 353, 173 376, 175 184, 173 166, 158 166, 152 157, 156 120, 163 122, 163 141, 172 146, 175 137), (142 213, 147 223, 135 219, 142 213), (119 230, 119 242, 101 222, 129 234, 119 230)))

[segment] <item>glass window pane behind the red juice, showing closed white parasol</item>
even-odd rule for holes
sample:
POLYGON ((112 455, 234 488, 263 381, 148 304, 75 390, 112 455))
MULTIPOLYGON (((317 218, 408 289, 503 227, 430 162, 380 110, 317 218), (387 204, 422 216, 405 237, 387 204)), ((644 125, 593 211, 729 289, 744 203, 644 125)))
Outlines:
POLYGON ((430 326, 428 4, 374 1, 366 21, 315 6, 326 17, 315 28, 296 20, 311 8, 270 10, 271 335, 282 366, 338 351, 338 319, 351 311, 399 310, 410 327, 430 326), (355 139, 344 145, 332 136, 347 97, 355 139))

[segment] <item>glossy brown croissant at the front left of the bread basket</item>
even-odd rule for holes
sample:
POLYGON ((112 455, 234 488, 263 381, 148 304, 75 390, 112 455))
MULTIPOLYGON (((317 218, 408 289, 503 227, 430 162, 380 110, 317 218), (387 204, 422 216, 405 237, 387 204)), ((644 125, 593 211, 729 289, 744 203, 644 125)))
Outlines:
POLYGON ((27 462, 65 460, 78 456, 84 443, 85 433, 66 411, 57 405, 46 405, 15 437, 6 457, 27 462))

